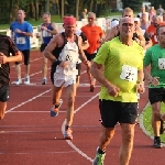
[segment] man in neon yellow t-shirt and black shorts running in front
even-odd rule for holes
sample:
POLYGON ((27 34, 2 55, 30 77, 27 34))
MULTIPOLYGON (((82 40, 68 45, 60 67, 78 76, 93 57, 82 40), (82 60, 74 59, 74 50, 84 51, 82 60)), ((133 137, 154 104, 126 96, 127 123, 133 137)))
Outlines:
POLYGON ((143 47, 132 40, 132 18, 120 20, 119 32, 119 36, 102 44, 91 66, 92 76, 102 85, 99 96, 102 132, 94 165, 103 164, 118 122, 122 132, 119 164, 129 164, 133 148, 136 91, 143 91, 143 47))

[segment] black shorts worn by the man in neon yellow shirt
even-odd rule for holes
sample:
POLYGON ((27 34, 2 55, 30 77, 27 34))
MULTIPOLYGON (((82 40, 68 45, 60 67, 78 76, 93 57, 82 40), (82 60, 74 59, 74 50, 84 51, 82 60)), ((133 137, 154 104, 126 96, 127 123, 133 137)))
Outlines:
POLYGON ((114 128, 118 122, 135 123, 138 118, 138 102, 100 100, 99 103, 102 125, 105 128, 114 128))

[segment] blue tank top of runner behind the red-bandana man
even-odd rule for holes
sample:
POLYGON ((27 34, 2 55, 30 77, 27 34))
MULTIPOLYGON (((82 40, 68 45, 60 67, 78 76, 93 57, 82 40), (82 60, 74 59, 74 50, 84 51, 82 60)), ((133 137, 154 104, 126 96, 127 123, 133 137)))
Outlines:
MULTIPOLYGON (((44 23, 42 24, 44 25, 44 23)), ((53 31, 52 23, 48 24, 47 30, 53 31)), ((42 30, 43 44, 48 44, 53 35, 47 31, 42 30)))

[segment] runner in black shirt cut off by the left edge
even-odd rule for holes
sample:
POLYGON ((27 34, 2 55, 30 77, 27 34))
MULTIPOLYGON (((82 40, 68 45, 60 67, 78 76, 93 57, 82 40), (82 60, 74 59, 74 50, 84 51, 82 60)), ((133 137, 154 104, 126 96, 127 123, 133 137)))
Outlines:
POLYGON ((4 118, 7 101, 9 100, 9 63, 19 61, 22 61, 22 54, 11 37, 0 34, 0 120, 4 118))

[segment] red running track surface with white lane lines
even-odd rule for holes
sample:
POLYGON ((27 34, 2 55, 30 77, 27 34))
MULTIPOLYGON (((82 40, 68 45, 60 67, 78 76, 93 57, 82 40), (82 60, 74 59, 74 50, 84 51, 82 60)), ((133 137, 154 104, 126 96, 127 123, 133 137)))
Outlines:
MULTIPOLYGON (((32 52, 31 57, 32 86, 11 85, 8 110, 0 121, 0 165, 91 165, 101 131, 99 84, 95 92, 89 92, 87 75, 81 75, 75 103, 74 140, 65 141, 62 132, 66 116, 65 90, 59 116, 51 118, 51 82, 41 85, 41 54, 32 52)), ((15 80, 13 67, 11 80, 15 80)), ((141 96, 140 111, 146 102, 147 91, 141 96)), ((107 147, 105 165, 118 165, 120 142, 117 125, 116 135, 107 147)), ((164 165, 165 148, 153 148, 152 144, 136 125, 130 165, 164 165)))

